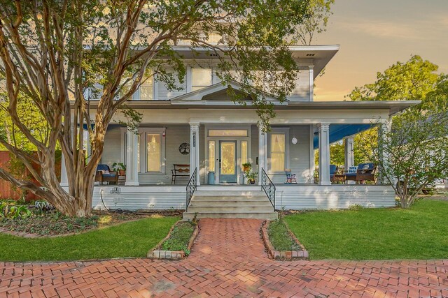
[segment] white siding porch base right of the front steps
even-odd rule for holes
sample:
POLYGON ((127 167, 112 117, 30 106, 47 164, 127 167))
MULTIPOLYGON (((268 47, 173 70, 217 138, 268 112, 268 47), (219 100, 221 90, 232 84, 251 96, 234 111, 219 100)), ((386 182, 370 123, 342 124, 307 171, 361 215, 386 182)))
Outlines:
POLYGON ((391 186, 276 186, 275 197, 276 209, 346 209, 354 204, 370 208, 395 206, 391 186))

